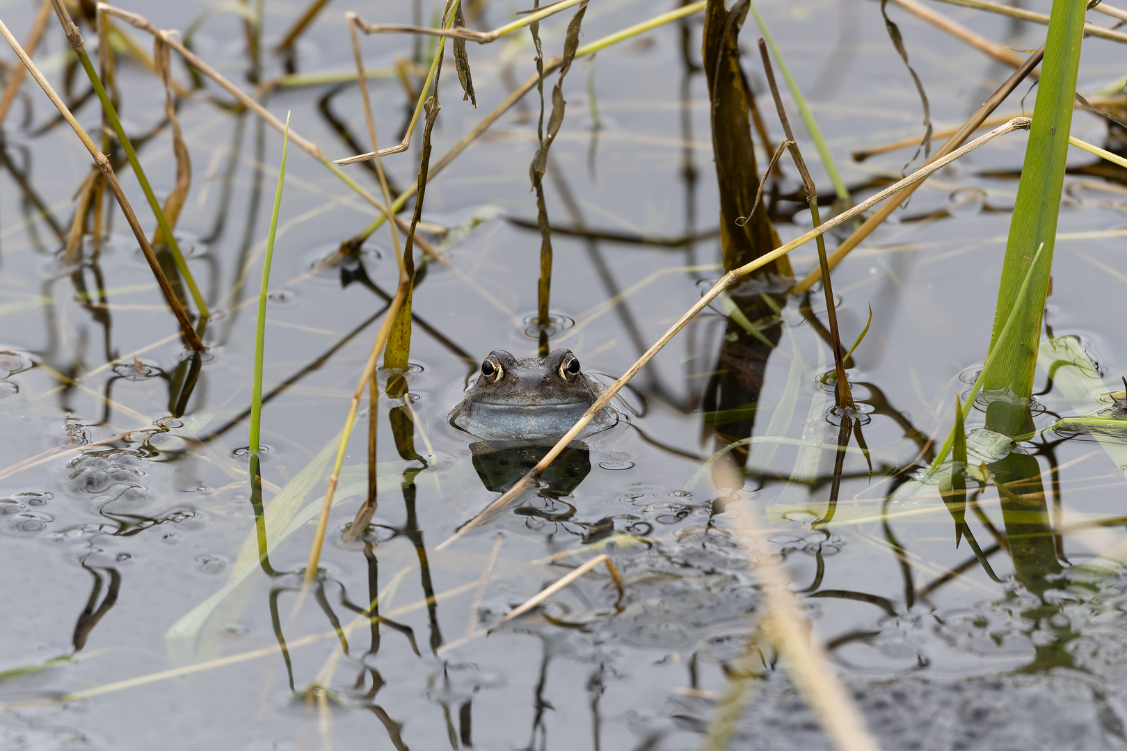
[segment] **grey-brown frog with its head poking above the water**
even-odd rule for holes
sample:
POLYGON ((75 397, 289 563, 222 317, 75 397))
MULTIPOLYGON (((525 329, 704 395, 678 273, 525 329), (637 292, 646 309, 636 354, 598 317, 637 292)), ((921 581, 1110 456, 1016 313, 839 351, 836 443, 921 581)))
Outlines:
MULTIPOLYGON (((450 411, 450 423, 486 440, 559 438, 602 391, 598 382, 580 370, 569 349, 521 359, 496 349, 481 363, 481 375, 467 397, 450 411)), ((615 412, 605 408, 583 433, 616 421, 615 412)))

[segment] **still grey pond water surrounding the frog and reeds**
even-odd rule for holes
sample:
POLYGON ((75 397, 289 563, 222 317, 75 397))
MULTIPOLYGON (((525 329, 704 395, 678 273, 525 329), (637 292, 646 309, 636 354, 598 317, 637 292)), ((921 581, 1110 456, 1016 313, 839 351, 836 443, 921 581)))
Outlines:
MULTIPOLYGON (((594 0, 583 42, 677 5, 594 0)), ((1044 41, 1041 26, 932 5, 1012 48, 1044 41)), ((1048 12, 1047 0, 1028 5, 1048 12)), ((302 6, 265 3, 260 80, 285 74, 286 60, 270 50, 302 6)), ((0 18, 25 38, 37 7, 0 0, 0 18)), ((236 12, 254 3, 124 7, 160 28, 195 26, 196 53, 254 91, 236 12)), ((854 200, 897 179, 911 149, 850 158, 922 133, 920 99, 878 5, 757 7, 843 179, 859 186, 854 200)), ((480 29, 523 9, 469 8, 480 29)), ((338 0, 300 37, 292 70, 352 70, 349 9, 373 23, 412 18, 402 1, 338 0)), ((421 18, 440 10, 423 2, 421 18)), ((961 123, 1009 75, 893 3, 889 14, 938 126, 961 123)), ((565 16, 541 24, 545 55, 562 48, 565 16)), ((83 30, 92 50, 95 34, 83 30)), ((700 35, 698 14, 577 60, 566 79, 567 115, 544 179, 548 214, 554 225, 594 234, 553 235, 551 346, 569 348, 604 383, 722 274, 700 35)), ((778 142, 752 54, 756 37, 748 19, 744 64, 778 142)), ((134 38, 150 48, 140 32, 134 38)), ((373 69, 416 53, 408 35, 364 37, 362 46, 373 69)), ((35 59, 77 100, 87 83, 65 50, 52 19, 35 59)), ((534 72, 533 54, 526 30, 471 43, 476 110, 446 65, 432 164, 534 72)), ((190 86, 172 60, 174 75, 190 86)), ((1080 89, 1115 81, 1122 60, 1116 43, 1089 38, 1080 89)), ((417 81, 409 66, 407 75, 417 81)), ((118 77, 123 122, 163 196, 176 178, 163 89, 125 55, 118 77)), ((554 80, 545 83, 549 98, 554 80)), ((1020 113, 1027 89, 1000 113, 1020 113)), ((193 181, 177 236, 214 312, 208 349, 194 359, 116 207, 106 236, 83 236, 81 261, 64 259, 72 197, 90 160, 34 82, 21 91, 0 143, 0 465, 8 467, 0 472, 0 746, 698 748, 762 613, 755 564, 733 531, 747 515, 767 530, 771 553, 885 748, 1127 746, 1120 444, 1051 431, 1026 444, 1010 470, 1045 493, 1023 502, 1009 491, 1000 498, 993 483, 971 492, 977 508, 967 521, 978 555, 969 538, 956 539, 934 488, 896 492, 923 466, 928 439, 947 435, 955 394, 966 395, 982 367, 1023 133, 937 173, 834 271, 843 340, 852 342, 872 311, 849 372, 867 412, 872 468, 848 453, 835 504, 835 452, 825 447, 837 428, 832 386, 820 377, 832 357, 822 323, 811 324, 825 321, 825 305, 815 295, 804 313, 799 298, 779 295, 781 311, 763 324, 774 347, 744 361, 758 400, 731 405, 740 420, 754 418, 753 435, 772 438, 743 455, 743 490, 717 488, 701 472, 724 445, 713 433, 713 373, 735 367, 718 358, 726 338, 739 337, 717 304, 623 391, 614 428, 566 452, 534 492, 438 549, 539 456, 473 445, 446 419, 490 350, 529 357, 538 349, 540 238, 527 229, 536 221, 533 91, 427 186, 423 220, 434 232, 425 236, 443 260, 426 265, 414 293, 410 395, 376 404, 379 506, 346 542, 369 488, 365 396, 323 571, 302 597, 335 441, 396 287, 390 234, 381 229, 356 257, 325 266, 374 213, 291 142, 267 306, 269 549, 258 565, 247 410, 282 138, 212 82, 179 107, 193 181), (114 439, 127 431, 140 432, 114 439), (600 553, 621 573, 621 594, 600 566, 530 615, 482 633, 600 553), (373 604, 375 622, 364 615, 373 604)), ((373 79, 372 96, 389 145, 414 99, 390 75, 373 79)), ((330 159, 369 147, 355 82, 275 88, 263 101, 278 117, 291 111, 294 131, 330 159)), ((95 98, 76 113, 98 132, 95 98)), ((796 127, 819 191, 832 195, 813 143, 796 127)), ((1073 134, 1116 146, 1107 123, 1080 110, 1073 134)), ((415 182, 420 135, 384 160, 393 191, 415 182)), ((758 153, 761 169, 767 159, 758 153)), ((1054 381, 1038 376, 1038 428, 1111 408, 1098 396, 1117 391, 1127 368, 1116 312, 1127 283, 1127 171, 1080 151, 1070 159, 1042 359, 1072 365, 1054 381)), ((151 231, 136 180, 126 164, 117 169, 151 231)), ((370 167, 344 169, 379 195, 370 167)), ((772 212, 788 240, 810 220, 780 198, 800 187, 788 161, 782 169, 772 212)), ((798 275, 814 268, 813 244, 791 253, 791 263, 798 275)), ((387 377, 381 372, 381 384, 387 377)), ((969 427, 982 421, 974 411, 969 427)), ((782 664, 761 646, 761 678, 731 748, 829 748, 782 664)))

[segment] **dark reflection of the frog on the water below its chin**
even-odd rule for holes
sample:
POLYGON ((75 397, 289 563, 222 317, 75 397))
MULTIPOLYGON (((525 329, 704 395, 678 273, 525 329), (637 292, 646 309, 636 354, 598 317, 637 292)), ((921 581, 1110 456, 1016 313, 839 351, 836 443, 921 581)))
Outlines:
MULTIPOLYGON (((473 468, 486 490, 504 493, 529 473, 551 450, 550 444, 524 441, 478 441, 470 444, 473 468)), ((549 521, 566 521, 575 515, 575 507, 562 500, 591 474, 591 449, 586 444, 573 442, 548 465, 540 477, 541 502, 517 508, 521 516, 541 517, 549 521)))

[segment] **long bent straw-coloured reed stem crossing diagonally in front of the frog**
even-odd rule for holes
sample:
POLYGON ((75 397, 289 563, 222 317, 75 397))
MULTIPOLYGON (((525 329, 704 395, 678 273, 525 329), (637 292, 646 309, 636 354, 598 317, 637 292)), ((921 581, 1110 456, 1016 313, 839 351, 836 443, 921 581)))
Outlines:
POLYGON ((480 513, 471 518, 469 521, 467 521, 464 525, 462 525, 453 535, 443 540, 435 549, 441 551, 446 546, 451 545, 459 537, 461 537, 470 529, 476 527, 478 524, 480 524, 481 519, 486 518, 494 511, 504 508, 513 499, 515 499, 517 495, 524 492, 533 482, 535 482, 540 477, 540 475, 548 467, 548 465, 551 464, 556 459, 556 457, 560 455, 560 452, 562 452, 564 448, 569 442, 571 442, 576 438, 576 436, 579 435, 579 432, 587 426, 587 423, 591 422, 591 419, 594 418, 604 406, 606 406, 612 399, 614 399, 614 395, 619 393, 622 386, 629 383, 629 381, 633 378, 635 375, 637 375, 637 373, 642 368, 642 366, 649 363, 649 360, 653 359, 654 356, 657 355, 662 350, 662 348, 665 347, 665 345, 667 345, 669 340, 677 334, 678 331, 685 328, 685 325, 687 325, 687 323, 692 321, 698 313, 708 307, 709 303, 711 303, 717 297, 717 295, 719 295, 728 287, 730 287, 738 279, 747 276, 757 268, 766 266, 777 258, 786 256, 796 248, 806 244, 810 240, 814 240, 818 235, 828 232, 835 226, 849 222, 854 216, 858 216, 867 212, 868 209, 872 208, 877 204, 897 195, 904 188, 926 179, 933 172, 941 170, 942 168, 947 167, 955 160, 965 157, 975 149, 978 149, 983 144, 988 143, 990 141, 993 141, 1000 135, 1012 133, 1013 131, 1027 129, 1030 123, 1031 120, 1028 117, 1015 117, 1005 125, 996 127, 990 133, 983 134, 982 136, 975 138, 967 145, 962 146, 961 149, 951 152, 947 157, 943 157, 942 159, 938 159, 929 164, 925 164, 924 167, 921 167, 917 171, 907 176, 903 180, 895 182, 888 188, 885 188, 875 196, 870 196, 869 198, 861 202, 853 208, 842 212, 841 214, 837 214, 836 216, 827 220, 824 224, 814 227, 813 230, 801 235, 800 238, 791 240, 790 242, 780 245, 779 248, 775 248, 770 253, 764 253, 763 256, 756 258, 754 261, 725 274, 722 277, 720 277, 719 281, 712 285, 712 287, 708 292, 706 292, 692 307, 689 309, 689 311, 686 311, 680 319, 677 319, 676 323, 669 327, 669 329, 664 334, 662 334, 660 339, 654 342, 654 345, 649 349, 647 349, 646 352, 641 357, 639 357, 638 360, 633 365, 631 365, 630 368, 624 374, 622 374, 622 376, 618 381, 612 383, 606 388, 606 391, 604 391, 598 396, 598 399, 595 400, 594 404, 592 404, 587 409, 587 411, 583 413, 583 417, 579 418, 579 420, 574 426, 571 426, 571 429, 568 430, 564 435, 564 437, 561 437, 556 442, 554 446, 552 446, 552 448, 548 452, 548 454, 545 454, 544 457, 540 459, 540 462, 538 462, 536 465, 527 472, 527 474, 521 477, 521 480, 518 480, 516 484, 514 484, 508 491, 503 493, 496 501, 490 503, 483 511, 481 511, 480 513))

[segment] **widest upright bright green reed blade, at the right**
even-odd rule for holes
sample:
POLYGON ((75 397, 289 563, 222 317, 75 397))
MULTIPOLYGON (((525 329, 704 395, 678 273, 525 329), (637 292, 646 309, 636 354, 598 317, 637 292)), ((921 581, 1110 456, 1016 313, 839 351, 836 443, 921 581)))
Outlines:
POLYGON ((1064 189, 1085 9, 1085 0, 1053 2, 1033 123, 1010 221, 991 336, 991 358, 997 350, 997 364, 986 374, 984 384, 986 393, 994 396, 986 408, 986 427, 1010 437, 1028 432, 1029 400, 1053 270, 1053 245, 1064 189), (1038 251, 1035 256, 1033 249, 1040 245, 1044 245, 1044 253, 1038 251), (1044 258, 1038 262, 1039 256, 1044 258), (1023 301, 1021 289, 1027 283, 1029 297, 1023 301), (1002 341, 1002 330, 1011 313, 1013 331, 1002 341), (1002 394, 1008 396, 999 396, 1002 394))

